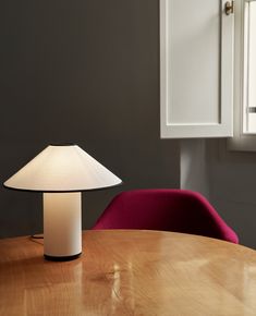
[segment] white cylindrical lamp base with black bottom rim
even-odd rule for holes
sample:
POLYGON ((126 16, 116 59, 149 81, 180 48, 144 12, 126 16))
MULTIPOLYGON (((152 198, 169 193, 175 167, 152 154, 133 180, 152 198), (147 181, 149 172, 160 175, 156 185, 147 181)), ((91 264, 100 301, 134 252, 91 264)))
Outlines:
POLYGON ((75 259, 82 253, 81 192, 44 193, 45 258, 75 259))

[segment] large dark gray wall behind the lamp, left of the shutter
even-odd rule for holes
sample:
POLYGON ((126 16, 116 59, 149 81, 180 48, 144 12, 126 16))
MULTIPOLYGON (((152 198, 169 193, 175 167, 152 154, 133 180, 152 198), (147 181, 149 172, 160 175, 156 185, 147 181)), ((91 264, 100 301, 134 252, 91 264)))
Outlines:
MULTIPOLYGON (((0 1, 0 181, 77 143, 124 185, 83 194, 88 228, 119 191, 176 187, 159 136, 158 0, 0 1)), ((41 231, 41 196, 0 190, 0 236, 41 231)))

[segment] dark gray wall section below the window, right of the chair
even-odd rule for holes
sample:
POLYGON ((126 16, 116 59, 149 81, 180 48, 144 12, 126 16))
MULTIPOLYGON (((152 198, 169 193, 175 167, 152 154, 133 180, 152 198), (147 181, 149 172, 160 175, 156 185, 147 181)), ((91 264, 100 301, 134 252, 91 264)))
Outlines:
POLYGON ((256 154, 228 150, 225 139, 207 141, 207 150, 210 200, 240 242, 256 248, 256 154))

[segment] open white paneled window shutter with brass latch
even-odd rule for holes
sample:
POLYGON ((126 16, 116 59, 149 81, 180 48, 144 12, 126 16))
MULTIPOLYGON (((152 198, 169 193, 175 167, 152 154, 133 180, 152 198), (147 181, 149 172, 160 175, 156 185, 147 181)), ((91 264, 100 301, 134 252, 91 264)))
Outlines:
POLYGON ((160 0, 162 138, 232 136, 234 17, 225 3, 160 0))

